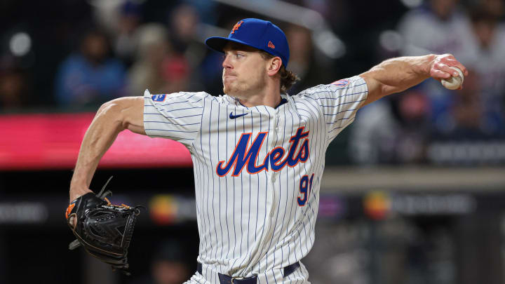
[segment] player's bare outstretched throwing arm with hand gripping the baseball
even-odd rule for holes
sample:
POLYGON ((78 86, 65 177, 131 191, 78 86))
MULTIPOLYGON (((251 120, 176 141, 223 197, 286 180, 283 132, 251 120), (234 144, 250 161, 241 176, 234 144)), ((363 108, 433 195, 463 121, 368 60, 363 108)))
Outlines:
POLYGON ((391 58, 360 74, 368 86, 368 97, 365 104, 375 102, 381 97, 399 93, 432 77, 440 81, 454 74, 450 67, 458 67, 468 75, 466 67, 451 54, 407 56, 391 58))

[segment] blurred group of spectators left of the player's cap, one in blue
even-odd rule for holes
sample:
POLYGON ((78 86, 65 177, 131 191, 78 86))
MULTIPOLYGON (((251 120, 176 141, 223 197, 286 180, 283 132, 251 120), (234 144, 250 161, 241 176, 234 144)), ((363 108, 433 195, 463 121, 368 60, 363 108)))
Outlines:
POLYGON ((60 106, 100 105, 115 97, 201 90, 198 69, 206 53, 196 41, 194 6, 180 4, 167 22, 143 22, 142 4, 97 2, 95 22, 55 77, 60 106))

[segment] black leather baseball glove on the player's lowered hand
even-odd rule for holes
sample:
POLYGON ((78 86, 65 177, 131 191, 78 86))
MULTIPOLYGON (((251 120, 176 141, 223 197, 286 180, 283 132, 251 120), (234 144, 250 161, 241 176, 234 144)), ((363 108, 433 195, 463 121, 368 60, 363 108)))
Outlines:
POLYGON ((130 275, 126 271, 128 269, 126 255, 135 221, 142 206, 131 208, 124 204, 111 204, 106 197, 112 194, 111 191, 105 191, 107 183, 99 194, 89 193, 80 196, 67 208, 65 214, 67 224, 77 237, 69 244, 69 249, 74 250, 82 245, 86 252, 110 264, 113 270, 119 269, 130 275), (72 218, 76 219, 75 223, 72 218))

